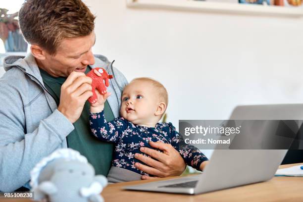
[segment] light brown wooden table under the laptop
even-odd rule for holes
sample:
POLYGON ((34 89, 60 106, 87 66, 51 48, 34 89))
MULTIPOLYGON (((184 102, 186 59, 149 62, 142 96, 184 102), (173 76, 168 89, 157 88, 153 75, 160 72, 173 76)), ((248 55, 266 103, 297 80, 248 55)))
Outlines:
MULTIPOLYGON (((286 168, 298 164, 281 165, 286 168)), ((169 179, 169 178, 164 178, 169 179)), ((160 180, 163 180, 160 179, 160 180)), ((149 180, 157 181, 157 180, 149 180)), ((108 185, 102 192, 105 202, 303 202, 303 177, 273 177, 261 182, 200 195, 166 194, 156 192, 126 191, 122 187, 146 183, 133 181, 108 185)), ((1 202, 31 202, 28 199, 1 202)))

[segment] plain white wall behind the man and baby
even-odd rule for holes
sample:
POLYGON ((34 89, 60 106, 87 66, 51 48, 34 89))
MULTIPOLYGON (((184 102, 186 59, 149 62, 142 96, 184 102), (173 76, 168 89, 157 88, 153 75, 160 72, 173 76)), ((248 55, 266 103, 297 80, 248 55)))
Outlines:
POLYGON ((303 20, 127 8, 85 0, 97 15, 95 53, 129 80, 169 92, 168 121, 227 119, 238 104, 303 101, 303 20))

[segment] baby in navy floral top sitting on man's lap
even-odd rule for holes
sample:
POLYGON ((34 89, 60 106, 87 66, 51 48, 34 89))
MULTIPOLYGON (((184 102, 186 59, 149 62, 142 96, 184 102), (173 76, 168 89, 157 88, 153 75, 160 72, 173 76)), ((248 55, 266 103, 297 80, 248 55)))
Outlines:
MULTIPOLYGON (((107 175, 109 182, 140 180, 148 175, 135 167, 135 153, 140 147, 149 147, 150 141, 171 144, 184 161, 202 170, 208 160, 196 147, 187 145, 171 123, 158 123, 168 103, 167 91, 162 84, 150 78, 132 80, 123 90, 121 117, 106 122, 103 108, 110 93, 98 94, 98 101, 91 105, 90 126, 98 139, 115 143, 112 167, 107 175)), ((143 153, 143 155, 147 155, 143 153)))

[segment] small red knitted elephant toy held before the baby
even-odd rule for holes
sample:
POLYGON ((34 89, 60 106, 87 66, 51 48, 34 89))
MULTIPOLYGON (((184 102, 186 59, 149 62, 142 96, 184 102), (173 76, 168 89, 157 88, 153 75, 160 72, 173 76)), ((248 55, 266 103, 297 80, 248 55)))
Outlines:
POLYGON ((96 89, 102 94, 106 94, 106 87, 109 86, 109 82, 108 79, 112 79, 113 76, 112 75, 108 75, 107 72, 105 71, 105 69, 100 68, 100 67, 96 67, 94 69, 92 69, 89 73, 87 73, 87 76, 91 77, 93 79, 93 83, 92 83, 92 92, 93 92, 93 96, 90 97, 88 99, 88 101, 91 104, 96 103, 96 101, 98 100, 98 96, 96 94, 96 89), (94 71, 98 71, 99 75, 96 74, 94 71), (105 84, 104 84, 104 82, 105 84))

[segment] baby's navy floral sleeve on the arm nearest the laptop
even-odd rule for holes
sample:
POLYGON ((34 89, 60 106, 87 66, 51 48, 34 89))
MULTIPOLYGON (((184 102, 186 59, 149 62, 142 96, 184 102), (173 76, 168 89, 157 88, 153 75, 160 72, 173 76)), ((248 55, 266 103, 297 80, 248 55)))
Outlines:
POLYGON ((208 158, 195 146, 186 144, 182 135, 176 128, 169 123, 169 132, 171 134, 171 145, 180 153, 185 163, 193 168, 200 170, 200 165, 208 158))

